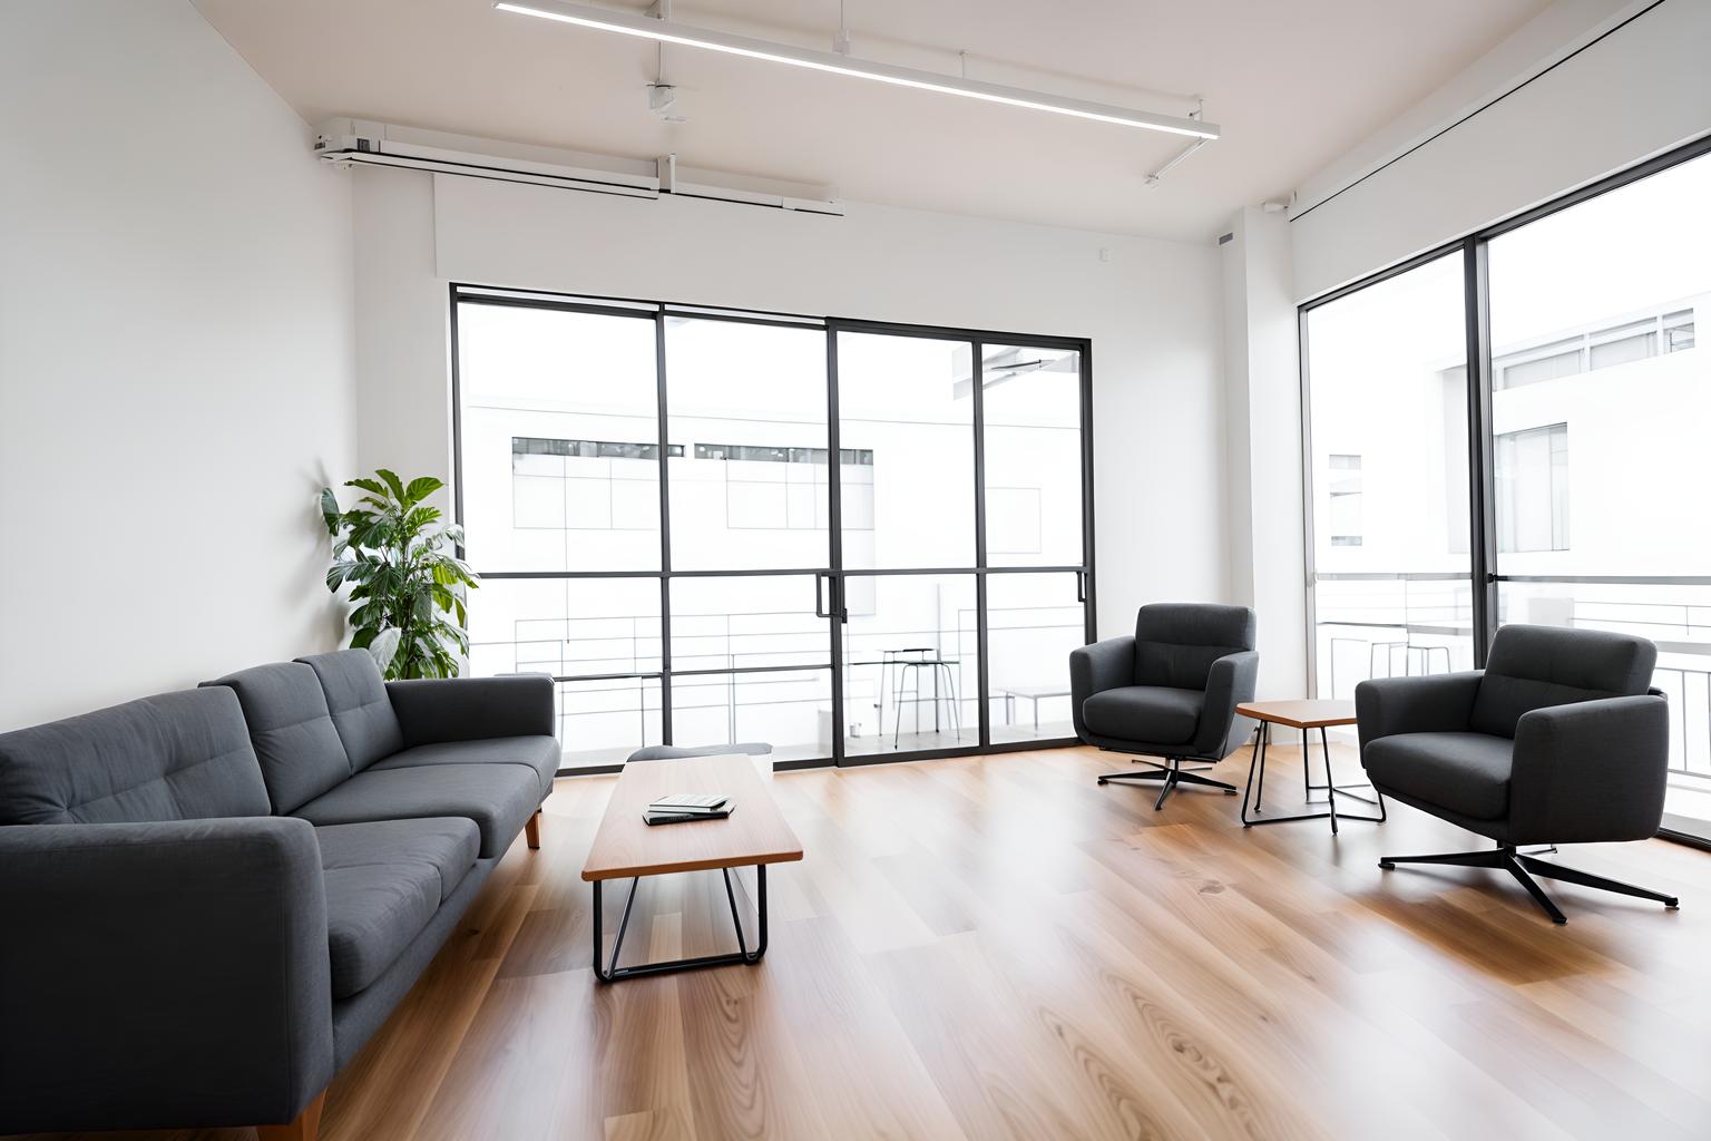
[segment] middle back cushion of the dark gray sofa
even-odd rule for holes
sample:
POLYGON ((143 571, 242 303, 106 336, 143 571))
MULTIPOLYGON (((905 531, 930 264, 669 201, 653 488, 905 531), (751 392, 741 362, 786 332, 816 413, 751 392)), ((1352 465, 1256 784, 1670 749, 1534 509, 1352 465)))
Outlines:
POLYGON ((284 816, 351 775, 327 695, 303 662, 257 665, 202 684, 238 695, 275 814, 284 816))

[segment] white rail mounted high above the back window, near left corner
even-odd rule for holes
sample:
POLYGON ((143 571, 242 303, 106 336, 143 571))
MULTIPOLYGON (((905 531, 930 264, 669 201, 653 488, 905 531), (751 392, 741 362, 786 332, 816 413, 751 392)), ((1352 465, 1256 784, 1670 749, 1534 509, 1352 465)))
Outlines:
POLYGON ((678 166, 674 154, 621 159, 358 118, 322 123, 315 132, 315 154, 335 166, 394 166, 626 198, 678 195, 804 214, 844 214, 837 193, 826 186, 678 166))

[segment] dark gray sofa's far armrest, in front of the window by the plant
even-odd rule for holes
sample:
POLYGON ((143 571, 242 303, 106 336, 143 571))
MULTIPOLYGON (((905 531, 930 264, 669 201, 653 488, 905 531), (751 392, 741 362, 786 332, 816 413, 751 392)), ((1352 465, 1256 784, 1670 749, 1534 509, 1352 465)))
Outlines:
POLYGON ((554 736, 549 674, 388 681, 387 696, 406 746, 554 736))

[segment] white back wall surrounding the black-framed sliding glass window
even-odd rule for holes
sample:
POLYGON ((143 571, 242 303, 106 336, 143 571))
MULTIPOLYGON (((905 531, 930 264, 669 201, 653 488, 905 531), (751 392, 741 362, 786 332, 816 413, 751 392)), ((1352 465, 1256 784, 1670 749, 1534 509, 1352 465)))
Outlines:
POLYGON ((852 205, 820 217, 359 171, 363 462, 448 472, 447 282, 1093 340, 1098 624, 1227 595, 1211 246, 852 205), (1100 251, 1109 250, 1109 260, 1100 251), (429 260, 431 258, 431 260, 429 260))

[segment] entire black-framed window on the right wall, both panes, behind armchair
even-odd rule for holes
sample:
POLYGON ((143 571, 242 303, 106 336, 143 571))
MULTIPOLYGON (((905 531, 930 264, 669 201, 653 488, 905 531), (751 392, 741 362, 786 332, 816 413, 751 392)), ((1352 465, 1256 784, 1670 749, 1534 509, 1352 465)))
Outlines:
POLYGON ((1302 313, 1319 693, 1482 662, 1502 623, 1644 635, 1670 698, 1667 826, 1699 835, 1711 833, 1708 151, 1302 313), (1425 395, 1432 376, 1442 409, 1425 395), (1388 460, 1410 467, 1391 493, 1388 460), (1424 604, 1434 590, 1439 604, 1424 604))

